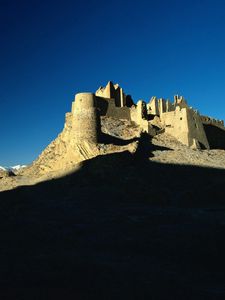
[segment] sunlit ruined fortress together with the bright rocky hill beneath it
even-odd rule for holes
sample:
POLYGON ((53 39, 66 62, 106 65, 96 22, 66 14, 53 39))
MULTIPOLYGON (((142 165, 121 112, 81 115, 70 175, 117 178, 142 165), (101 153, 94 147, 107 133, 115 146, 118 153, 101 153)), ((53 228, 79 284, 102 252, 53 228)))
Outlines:
POLYGON ((225 168, 224 150, 223 121, 200 115, 184 97, 135 104, 108 82, 95 93, 75 95, 62 132, 18 176, 0 174, 0 191, 65 176, 86 160, 127 151, 153 162, 225 168))

